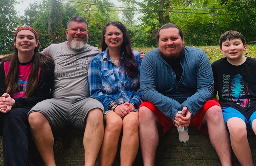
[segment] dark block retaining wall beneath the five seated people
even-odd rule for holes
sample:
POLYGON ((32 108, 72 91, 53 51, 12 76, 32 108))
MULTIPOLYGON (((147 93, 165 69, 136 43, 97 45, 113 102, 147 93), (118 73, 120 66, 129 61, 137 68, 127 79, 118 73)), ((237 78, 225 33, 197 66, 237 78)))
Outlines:
MULTIPOLYGON (((163 138, 159 140, 156 152, 156 166, 220 166, 219 158, 213 149, 209 137, 202 135, 195 128, 188 128, 189 141, 181 143, 178 139, 176 128, 172 128, 163 138)), ((55 133, 55 160, 57 166, 82 166, 84 165, 83 131, 68 127, 55 133)), ((256 165, 256 143, 255 135, 248 130, 248 139, 252 149, 253 161, 256 165)), ((150 146, 150 145, 149 145, 150 146)), ((120 150, 120 149, 119 149, 120 150)), ((119 151, 118 150, 118 151, 119 151)), ((31 152, 30 165, 43 166, 38 152, 31 152)), ((114 166, 120 165, 120 153, 114 162, 114 166)), ((100 164, 99 157, 95 166, 100 164)), ((240 165, 234 154, 232 154, 234 166, 240 165)), ((139 149, 134 166, 143 165, 139 149)), ((2 139, 0 138, 0 166, 3 166, 2 139)))

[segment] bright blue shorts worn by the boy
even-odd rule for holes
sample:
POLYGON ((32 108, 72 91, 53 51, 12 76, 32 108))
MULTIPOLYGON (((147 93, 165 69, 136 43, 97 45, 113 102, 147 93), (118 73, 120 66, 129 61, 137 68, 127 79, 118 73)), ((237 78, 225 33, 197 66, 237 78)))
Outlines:
MULTIPOLYGON (((245 122, 246 126, 249 125, 252 129, 252 121, 256 119, 256 111, 254 113, 252 113, 251 117, 249 118, 249 121, 247 121, 247 119, 245 118, 245 116, 243 116, 243 114, 241 112, 237 111, 234 108, 222 107, 222 112, 223 112, 223 118, 224 118, 224 121, 226 124, 230 118, 238 117, 245 122)), ((252 131, 253 131, 253 129, 252 129, 252 131)))

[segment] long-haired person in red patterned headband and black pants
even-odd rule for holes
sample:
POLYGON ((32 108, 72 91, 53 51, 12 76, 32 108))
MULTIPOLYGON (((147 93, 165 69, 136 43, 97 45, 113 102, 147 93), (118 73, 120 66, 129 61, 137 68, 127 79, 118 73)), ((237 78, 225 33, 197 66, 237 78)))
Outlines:
POLYGON ((54 61, 39 53, 37 32, 20 27, 15 32, 14 52, 0 65, 0 116, 4 118, 4 165, 28 165, 28 111, 49 98, 54 80, 54 61))

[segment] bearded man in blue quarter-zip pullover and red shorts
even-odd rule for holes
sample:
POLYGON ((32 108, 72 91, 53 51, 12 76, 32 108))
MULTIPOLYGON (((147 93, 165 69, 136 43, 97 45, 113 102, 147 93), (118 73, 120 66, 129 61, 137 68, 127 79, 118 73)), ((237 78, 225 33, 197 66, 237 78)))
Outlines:
POLYGON ((194 126, 209 134, 221 164, 231 165, 222 108, 212 100, 210 62, 204 51, 184 46, 183 39, 180 27, 163 25, 157 33, 159 48, 147 52, 141 63, 140 86, 145 102, 138 114, 144 165, 154 165, 159 136, 174 125, 194 126))

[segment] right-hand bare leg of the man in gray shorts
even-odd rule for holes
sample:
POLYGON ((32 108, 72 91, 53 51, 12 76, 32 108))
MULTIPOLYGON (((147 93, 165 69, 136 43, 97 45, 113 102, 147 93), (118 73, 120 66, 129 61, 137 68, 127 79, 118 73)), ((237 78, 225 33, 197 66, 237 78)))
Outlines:
POLYGON ((94 108, 88 112, 84 134, 85 166, 94 166, 104 135, 103 112, 94 108))

